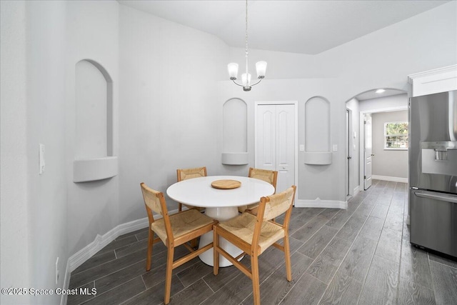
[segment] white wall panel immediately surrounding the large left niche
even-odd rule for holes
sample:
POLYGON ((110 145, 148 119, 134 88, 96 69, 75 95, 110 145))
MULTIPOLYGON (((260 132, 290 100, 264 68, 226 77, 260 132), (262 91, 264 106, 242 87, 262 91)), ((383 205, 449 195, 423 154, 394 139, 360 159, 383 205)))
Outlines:
MULTIPOLYGON (((119 224, 119 176, 94 182, 73 182, 76 159, 76 64, 96 61, 113 80, 114 156, 119 153, 119 4, 116 1, 66 1, 66 187, 68 190, 67 236, 69 254, 94 241, 119 224)), ((96 127, 96 124, 93 128, 96 127)))

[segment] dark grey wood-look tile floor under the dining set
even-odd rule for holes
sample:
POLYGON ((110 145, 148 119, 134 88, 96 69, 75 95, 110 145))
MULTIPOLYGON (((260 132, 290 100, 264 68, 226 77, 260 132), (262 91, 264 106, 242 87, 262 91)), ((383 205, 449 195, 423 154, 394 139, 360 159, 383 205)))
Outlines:
MULTIPOLYGON (((293 280, 283 252, 268 249, 259 262, 261 303, 457 304, 457 261, 411 246, 407 196, 406 184, 373 181, 346 210, 293 208, 293 280)), ((69 288, 97 293, 69 296, 67 304, 163 304, 166 247, 154 245, 146 272, 147 230, 119 236, 74 270, 69 288)), ((175 258, 186 251, 180 246, 175 258)), ((214 276, 197 257, 173 271, 170 304, 252 303, 251 280, 234 266, 214 276)))

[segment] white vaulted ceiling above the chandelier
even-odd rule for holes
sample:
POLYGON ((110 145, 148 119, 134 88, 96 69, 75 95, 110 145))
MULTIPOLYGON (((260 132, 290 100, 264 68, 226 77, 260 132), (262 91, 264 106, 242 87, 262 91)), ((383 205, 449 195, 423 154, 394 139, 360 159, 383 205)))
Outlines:
MULTIPOLYGON (((136 1, 119 3, 245 46, 245 1, 136 1)), ((433 9, 448 1, 266 1, 248 2, 251 49, 319 54, 433 9)))

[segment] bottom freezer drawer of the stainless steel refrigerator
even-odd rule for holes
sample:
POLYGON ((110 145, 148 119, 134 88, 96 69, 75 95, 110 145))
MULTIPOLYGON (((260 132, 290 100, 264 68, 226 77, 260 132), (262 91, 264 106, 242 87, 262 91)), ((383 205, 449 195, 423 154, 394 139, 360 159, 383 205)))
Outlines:
POLYGON ((411 243, 457 257, 457 195, 410 190, 411 243))

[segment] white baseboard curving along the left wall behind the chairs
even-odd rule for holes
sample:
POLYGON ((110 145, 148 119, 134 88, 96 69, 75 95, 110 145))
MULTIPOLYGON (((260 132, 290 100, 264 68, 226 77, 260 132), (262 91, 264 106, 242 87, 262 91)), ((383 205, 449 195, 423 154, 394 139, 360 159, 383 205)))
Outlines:
MULTIPOLYGON (((171 214, 176 213, 176 210, 169 211, 171 214)), ((161 218, 159 216, 154 216, 154 219, 161 218)), ((90 244, 85 246, 83 249, 79 250, 75 254, 69 257, 66 263, 66 270, 65 270, 65 279, 64 279, 64 287, 63 289, 69 289, 70 284, 70 274, 76 268, 84 264, 85 261, 90 259, 94 254, 98 251, 103 249, 106 245, 114 241, 114 239, 118 238, 121 235, 137 231, 140 229, 147 228, 149 226, 149 220, 147 217, 143 219, 136 219, 134 221, 126 222, 125 224, 119 224, 118 226, 114 227, 110 231, 106 232, 103 236, 97 234, 94 241, 90 244)), ((61 305, 66 304, 67 295, 62 294, 61 297, 61 305)))

